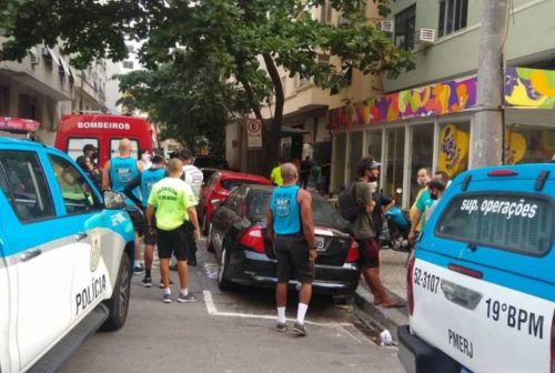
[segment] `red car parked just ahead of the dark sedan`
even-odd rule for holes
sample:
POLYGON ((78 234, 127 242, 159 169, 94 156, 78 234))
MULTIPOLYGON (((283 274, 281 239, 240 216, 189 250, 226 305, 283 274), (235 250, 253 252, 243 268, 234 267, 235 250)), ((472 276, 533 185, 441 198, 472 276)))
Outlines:
POLYGON ((208 181, 204 181, 198 208, 200 221, 202 222, 202 232, 204 234, 208 233, 212 220, 213 205, 211 201, 225 200, 235 188, 244 183, 271 185, 270 180, 266 178, 251 173, 224 170, 214 172, 208 181))

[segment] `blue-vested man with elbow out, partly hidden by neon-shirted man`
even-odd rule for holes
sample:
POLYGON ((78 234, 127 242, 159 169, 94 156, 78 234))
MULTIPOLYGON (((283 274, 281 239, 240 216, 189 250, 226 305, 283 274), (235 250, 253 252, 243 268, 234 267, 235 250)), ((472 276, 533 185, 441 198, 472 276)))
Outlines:
MULTIPOLYGON (((162 180, 167 173, 165 164, 164 164, 164 155, 161 151, 154 150, 151 157, 152 165, 137 175, 133 180, 131 180, 123 190, 123 193, 133 201, 139 208, 147 211, 148 201, 150 196, 150 192, 152 191, 152 186, 162 180), (133 193, 133 190, 139 188, 141 192, 141 198, 137 198, 133 193)), ((154 245, 157 244, 157 231, 149 230, 147 226, 147 220, 144 220, 144 279, 142 280, 142 285, 144 288, 152 286, 152 261, 154 256, 154 245)))

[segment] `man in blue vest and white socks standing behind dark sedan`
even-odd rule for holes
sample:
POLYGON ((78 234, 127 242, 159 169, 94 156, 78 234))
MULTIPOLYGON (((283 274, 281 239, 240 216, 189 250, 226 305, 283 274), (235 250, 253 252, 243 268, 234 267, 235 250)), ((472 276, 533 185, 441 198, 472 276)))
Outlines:
POLYGON ((312 296, 312 281, 316 261, 314 224, 312 222, 312 196, 297 185, 297 169, 292 163, 281 167, 283 186, 274 189, 266 211, 268 233, 274 244, 278 259, 276 331, 287 330, 285 306, 291 272, 301 283, 299 309, 293 331, 306 335, 304 316, 312 296))

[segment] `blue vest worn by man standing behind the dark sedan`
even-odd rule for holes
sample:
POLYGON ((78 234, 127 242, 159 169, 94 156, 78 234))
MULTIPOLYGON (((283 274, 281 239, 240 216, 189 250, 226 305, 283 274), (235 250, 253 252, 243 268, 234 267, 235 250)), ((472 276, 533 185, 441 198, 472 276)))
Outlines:
POLYGON ((299 185, 278 186, 270 200, 270 210, 273 216, 273 229, 276 234, 291 235, 302 232, 301 206, 296 195, 299 185))

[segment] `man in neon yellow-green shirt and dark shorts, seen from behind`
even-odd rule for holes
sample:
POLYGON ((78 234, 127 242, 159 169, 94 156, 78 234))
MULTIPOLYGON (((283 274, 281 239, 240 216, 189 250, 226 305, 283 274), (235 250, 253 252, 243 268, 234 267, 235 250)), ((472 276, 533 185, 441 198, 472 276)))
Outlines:
POLYGON ((162 301, 171 303, 170 290, 170 259, 172 254, 178 260, 178 273, 181 291, 178 302, 196 302, 198 299, 189 293, 186 261, 189 259, 189 245, 184 223, 190 221, 194 226, 194 238, 200 239, 199 220, 196 218, 193 191, 191 186, 181 180, 183 163, 179 159, 172 159, 168 164, 169 177, 162 179, 152 188, 147 208, 148 229, 158 230, 158 255, 160 256, 160 273, 164 286, 162 301))

